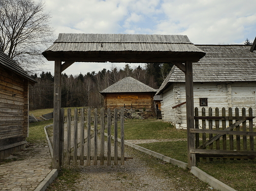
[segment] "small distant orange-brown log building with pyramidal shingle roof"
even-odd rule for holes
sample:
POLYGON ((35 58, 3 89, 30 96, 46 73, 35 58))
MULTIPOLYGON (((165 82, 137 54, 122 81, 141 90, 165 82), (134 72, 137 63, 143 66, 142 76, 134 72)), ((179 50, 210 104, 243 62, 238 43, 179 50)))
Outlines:
POLYGON ((153 98, 157 90, 142 82, 126 77, 100 92, 104 96, 105 109, 122 108, 154 111, 153 98))

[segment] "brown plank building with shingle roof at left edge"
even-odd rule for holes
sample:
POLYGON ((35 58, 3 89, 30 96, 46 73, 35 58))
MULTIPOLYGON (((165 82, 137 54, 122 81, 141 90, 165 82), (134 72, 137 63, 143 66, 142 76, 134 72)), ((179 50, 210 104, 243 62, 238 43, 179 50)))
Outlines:
POLYGON ((23 149, 29 133, 29 85, 35 81, 0 50, 0 159, 23 149))

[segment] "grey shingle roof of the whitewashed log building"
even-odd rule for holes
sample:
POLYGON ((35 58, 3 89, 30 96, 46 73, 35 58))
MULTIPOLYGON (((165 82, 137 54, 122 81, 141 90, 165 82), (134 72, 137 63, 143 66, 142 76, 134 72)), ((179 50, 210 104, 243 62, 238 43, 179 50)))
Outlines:
MULTIPOLYGON (((196 45, 204 52, 199 62, 193 63, 193 82, 256 81, 256 53, 247 45, 196 45)), ((160 86, 160 94, 172 82, 185 82, 185 74, 173 66, 160 86)))

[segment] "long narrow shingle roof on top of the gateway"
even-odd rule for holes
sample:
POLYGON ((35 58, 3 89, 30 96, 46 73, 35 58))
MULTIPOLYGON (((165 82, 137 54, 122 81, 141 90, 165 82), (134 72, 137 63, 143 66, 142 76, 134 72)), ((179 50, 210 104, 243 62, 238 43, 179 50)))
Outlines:
POLYGON ((170 63, 199 61, 205 53, 186 35, 60 33, 48 61, 170 63))

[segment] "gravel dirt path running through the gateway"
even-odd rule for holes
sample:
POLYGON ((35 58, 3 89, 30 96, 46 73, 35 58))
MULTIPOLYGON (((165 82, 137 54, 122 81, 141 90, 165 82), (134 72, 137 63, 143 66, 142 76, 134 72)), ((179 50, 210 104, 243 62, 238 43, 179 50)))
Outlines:
MULTIPOLYGON (((73 129, 72 129, 73 131, 73 129)), ((86 135, 85 135, 86 136, 86 135)), ((78 137, 79 131, 78 131, 78 137)), ((71 138, 72 140, 72 138, 71 138)), ((98 140, 99 141, 99 140, 98 140)), ((129 140, 134 144, 170 141, 169 139, 129 140)), ((107 144, 105 143, 105 146, 107 144)), ((93 150, 93 149, 91 149, 93 150)), ((107 149, 105 148, 105 151, 107 149)), ((120 151, 119 151, 120 152, 120 151)), ((125 165, 105 164, 69 166, 79 171, 75 191, 210 191, 209 186, 194 177, 189 170, 155 159, 128 146, 125 147, 125 165)), ((78 161, 79 163, 79 161, 78 161)), ((99 162, 98 162, 99 163, 99 162)), ((85 161, 86 164, 86 161, 85 161)), ((70 185, 69 185, 70 186, 70 185)), ((65 187, 67 188, 67 187, 65 187)), ((59 188, 61 189, 61 188, 59 188)))

